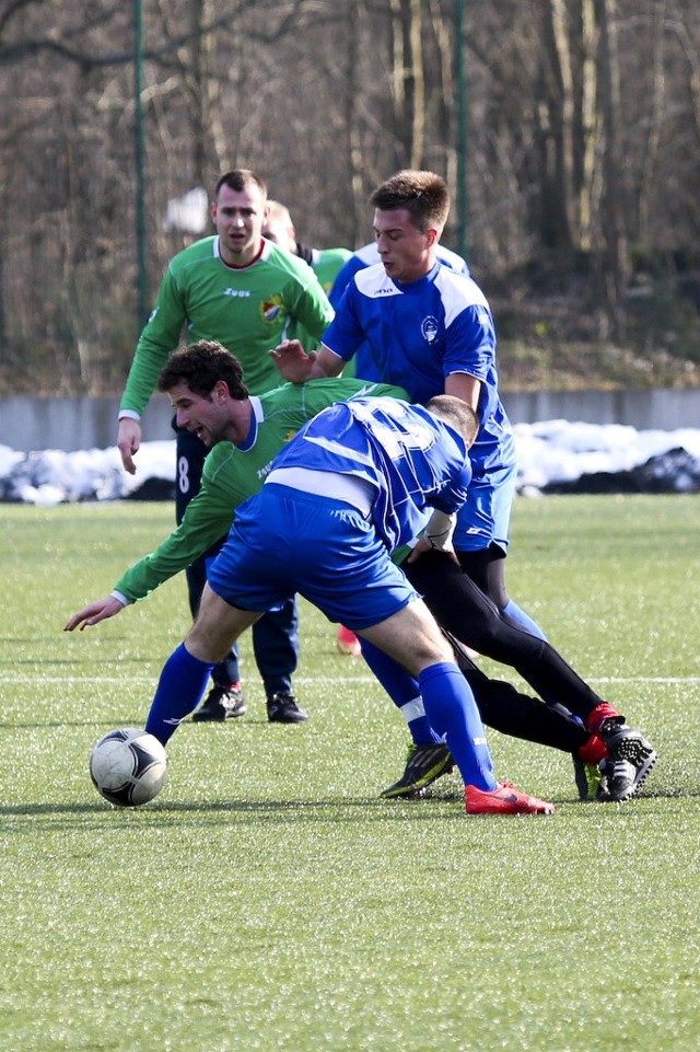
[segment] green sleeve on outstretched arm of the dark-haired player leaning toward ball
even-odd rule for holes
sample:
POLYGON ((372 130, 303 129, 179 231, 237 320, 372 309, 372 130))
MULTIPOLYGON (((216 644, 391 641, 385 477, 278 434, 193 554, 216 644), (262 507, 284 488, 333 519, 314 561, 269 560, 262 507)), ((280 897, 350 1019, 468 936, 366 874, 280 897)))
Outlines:
POLYGON ((115 585, 115 591, 136 602, 184 570, 228 534, 236 502, 230 486, 202 476, 202 488, 187 506, 177 529, 154 552, 129 567, 115 585))

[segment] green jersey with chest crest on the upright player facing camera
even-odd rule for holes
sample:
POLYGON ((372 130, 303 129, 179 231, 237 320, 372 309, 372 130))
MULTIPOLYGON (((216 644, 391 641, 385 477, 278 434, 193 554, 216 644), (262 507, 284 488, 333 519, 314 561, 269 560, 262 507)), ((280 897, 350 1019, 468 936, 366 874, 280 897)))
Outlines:
POLYGON ((139 338, 121 409, 141 414, 183 327, 187 343, 217 339, 243 367, 248 390, 262 394, 283 383, 268 351, 302 326, 318 340, 332 308, 313 270, 265 241, 247 267, 229 267, 219 238, 205 238, 173 257, 139 338))

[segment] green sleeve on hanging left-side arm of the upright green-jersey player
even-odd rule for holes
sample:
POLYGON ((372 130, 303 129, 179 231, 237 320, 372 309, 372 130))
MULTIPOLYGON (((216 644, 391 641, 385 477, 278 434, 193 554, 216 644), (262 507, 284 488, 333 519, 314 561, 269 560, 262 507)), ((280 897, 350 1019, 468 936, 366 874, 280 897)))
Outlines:
POLYGON ((168 267, 155 308, 139 337, 120 408, 143 413, 155 391, 161 369, 179 343, 186 321, 183 297, 168 267))

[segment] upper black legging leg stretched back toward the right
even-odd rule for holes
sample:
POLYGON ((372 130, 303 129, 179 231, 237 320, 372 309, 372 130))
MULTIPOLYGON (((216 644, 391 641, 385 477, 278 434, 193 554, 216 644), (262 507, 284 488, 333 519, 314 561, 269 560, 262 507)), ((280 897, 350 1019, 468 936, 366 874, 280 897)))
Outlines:
POLYGON ((485 657, 514 668, 548 704, 559 702, 584 721, 603 704, 549 643, 502 613, 447 555, 428 552, 401 568, 443 628, 485 657))

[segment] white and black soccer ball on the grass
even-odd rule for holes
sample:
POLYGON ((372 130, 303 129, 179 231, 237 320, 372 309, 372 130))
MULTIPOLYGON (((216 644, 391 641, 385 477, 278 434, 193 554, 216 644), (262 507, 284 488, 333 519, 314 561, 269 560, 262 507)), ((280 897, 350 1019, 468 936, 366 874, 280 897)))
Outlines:
POLYGON ((167 754, 158 738, 144 730, 112 730, 92 751, 90 777, 105 800, 139 807, 156 797, 167 782, 167 754))

